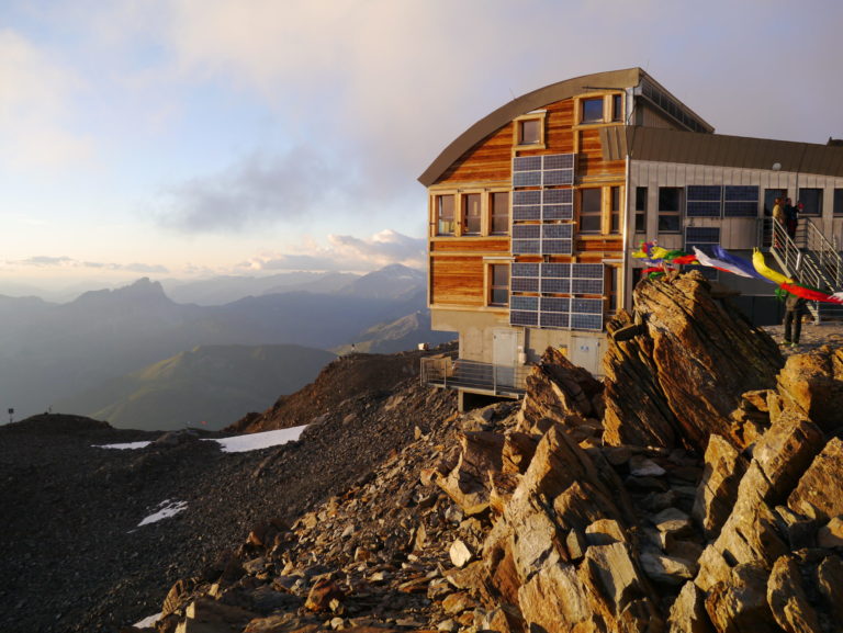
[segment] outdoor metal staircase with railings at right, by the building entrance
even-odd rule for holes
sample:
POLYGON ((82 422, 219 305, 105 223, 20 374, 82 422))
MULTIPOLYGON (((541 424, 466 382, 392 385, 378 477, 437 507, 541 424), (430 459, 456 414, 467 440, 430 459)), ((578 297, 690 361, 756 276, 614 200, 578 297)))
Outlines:
MULTIPOLYGON (((843 290, 843 259, 836 245, 830 242, 810 218, 799 218, 796 235, 791 238, 785 226, 775 218, 764 221, 763 244, 788 276, 801 285, 823 292, 843 290)), ((808 302, 808 309, 816 319, 843 320, 843 305, 825 302, 808 302)))

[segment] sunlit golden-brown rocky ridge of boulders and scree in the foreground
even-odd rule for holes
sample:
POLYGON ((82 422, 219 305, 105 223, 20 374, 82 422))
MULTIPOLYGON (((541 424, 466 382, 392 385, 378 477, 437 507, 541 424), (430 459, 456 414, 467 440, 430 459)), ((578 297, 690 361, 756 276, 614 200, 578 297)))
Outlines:
POLYGON ((785 361, 695 273, 636 299, 605 386, 549 350, 522 403, 254 525, 155 630, 839 631, 843 350, 785 361))

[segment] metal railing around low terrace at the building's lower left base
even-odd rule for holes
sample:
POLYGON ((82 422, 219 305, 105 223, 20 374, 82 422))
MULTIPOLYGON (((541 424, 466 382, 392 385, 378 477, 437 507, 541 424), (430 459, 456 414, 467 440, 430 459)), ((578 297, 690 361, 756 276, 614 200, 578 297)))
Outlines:
POLYGON ((422 384, 496 396, 521 396, 529 372, 527 365, 495 365, 456 358, 456 354, 422 359, 422 384))

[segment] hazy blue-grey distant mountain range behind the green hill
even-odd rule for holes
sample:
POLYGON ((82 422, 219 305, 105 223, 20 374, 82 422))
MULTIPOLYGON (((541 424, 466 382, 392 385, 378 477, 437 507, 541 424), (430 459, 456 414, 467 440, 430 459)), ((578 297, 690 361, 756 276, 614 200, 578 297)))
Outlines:
MULTIPOLYGON (((415 347, 419 339, 452 338, 429 330, 424 273, 391 265, 344 279, 339 284, 335 276, 323 276, 330 292, 273 292, 223 305, 176 303, 161 283, 146 278, 116 290, 87 292, 66 304, 0 296, 0 410, 14 409, 18 419, 45 411, 198 346, 331 350, 371 339, 371 332, 363 332, 372 328, 394 332, 390 324, 415 314, 425 315, 420 330, 369 340, 369 348, 392 352, 415 347)), ((310 281, 312 289, 319 287, 317 280, 310 281)), ((240 293, 254 290, 251 280, 244 284, 240 293)), ((217 287, 236 295, 234 285, 226 279, 217 287)), ((204 289, 209 295, 212 286, 204 289)), ((312 377, 310 371, 305 373, 312 377)), ((272 397, 280 395, 282 388, 272 397)))

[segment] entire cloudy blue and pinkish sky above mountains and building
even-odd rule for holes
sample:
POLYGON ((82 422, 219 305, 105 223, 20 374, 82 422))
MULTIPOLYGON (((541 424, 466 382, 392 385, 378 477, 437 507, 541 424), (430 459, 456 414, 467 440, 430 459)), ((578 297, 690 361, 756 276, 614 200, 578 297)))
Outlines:
POLYGON ((838 0, 1 0, 0 293, 423 267, 418 176, 591 72, 824 144, 841 25, 838 0))

